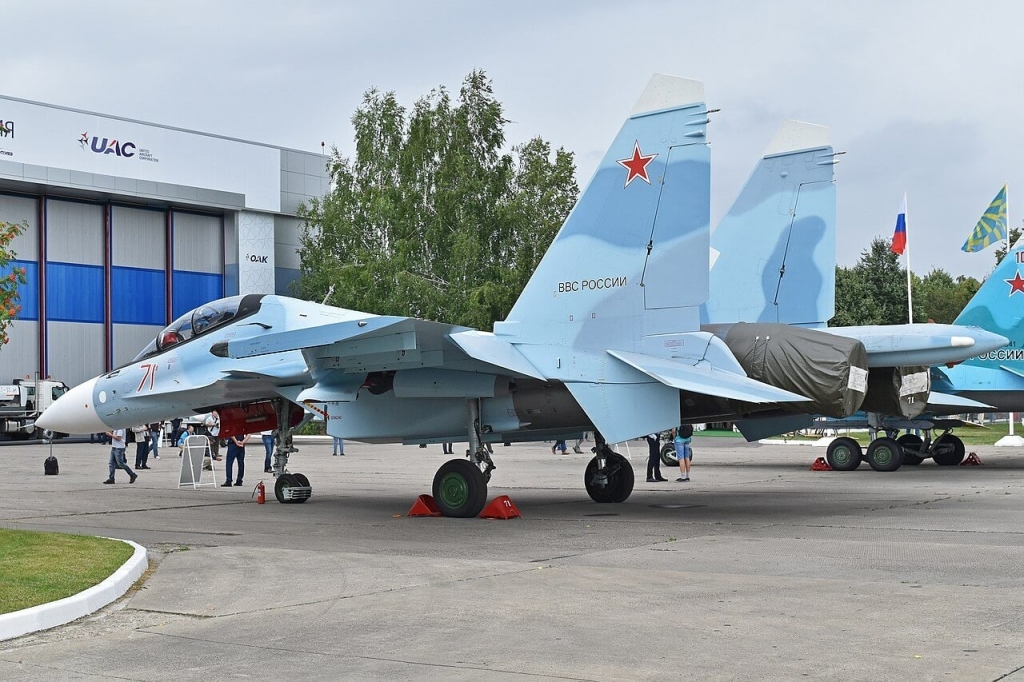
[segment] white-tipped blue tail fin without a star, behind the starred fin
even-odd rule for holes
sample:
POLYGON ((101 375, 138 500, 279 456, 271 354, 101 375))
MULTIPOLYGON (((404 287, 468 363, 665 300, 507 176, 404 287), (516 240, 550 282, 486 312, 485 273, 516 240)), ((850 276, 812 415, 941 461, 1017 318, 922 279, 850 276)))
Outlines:
POLYGON ((828 129, 785 121, 711 236, 703 325, 821 327, 836 313, 835 154, 828 129))

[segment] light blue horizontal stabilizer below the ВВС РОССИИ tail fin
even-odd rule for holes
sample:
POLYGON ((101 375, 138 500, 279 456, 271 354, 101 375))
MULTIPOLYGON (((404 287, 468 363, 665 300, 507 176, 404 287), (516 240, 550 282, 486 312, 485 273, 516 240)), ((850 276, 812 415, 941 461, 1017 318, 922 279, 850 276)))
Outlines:
POLYGON ((809 402, 810 398, 775 388, 732 372, 717 370, 707 364, 686 365, 678 360, 641 355, 620 350, 607 351, 630 367, 667 386, 682 391, 742 400, 743 402, 809 402))

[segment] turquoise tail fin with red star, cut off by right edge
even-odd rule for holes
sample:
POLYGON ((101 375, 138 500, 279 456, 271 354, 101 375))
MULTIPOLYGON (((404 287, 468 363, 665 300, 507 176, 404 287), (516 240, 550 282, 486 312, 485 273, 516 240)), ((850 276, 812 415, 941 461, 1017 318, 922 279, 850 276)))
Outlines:
POLYGON ((1010 339, 1007 348, 964 363, 1024 377, 1024 244, 1018 241, 957 315, 954 325, 980 327, 1010 339))

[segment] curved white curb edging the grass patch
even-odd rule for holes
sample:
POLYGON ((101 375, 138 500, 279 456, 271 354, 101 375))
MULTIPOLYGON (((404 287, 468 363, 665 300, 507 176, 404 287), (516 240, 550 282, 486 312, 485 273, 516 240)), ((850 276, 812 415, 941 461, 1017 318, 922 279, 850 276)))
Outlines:
POLYGON ((0 615, 0 641, 71 623, 99 610, 124 595, 145 572, 150 562, 144 547, 128 540, 119 542, 131 545, 135 552, 110 578, 70 597, 0 615))

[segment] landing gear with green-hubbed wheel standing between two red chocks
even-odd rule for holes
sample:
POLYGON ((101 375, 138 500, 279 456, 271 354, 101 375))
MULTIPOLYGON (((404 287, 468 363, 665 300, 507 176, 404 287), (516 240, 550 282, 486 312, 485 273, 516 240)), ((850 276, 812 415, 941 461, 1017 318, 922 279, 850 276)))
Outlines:
POLYGON ((469 422, 468 460, 449 460, 434 474, 433 496, 444 516, 478 516, 487 502, 487 482, 495 463, 490 445, 483 442, 480 430, 480 403, 467 400, 469 422))

